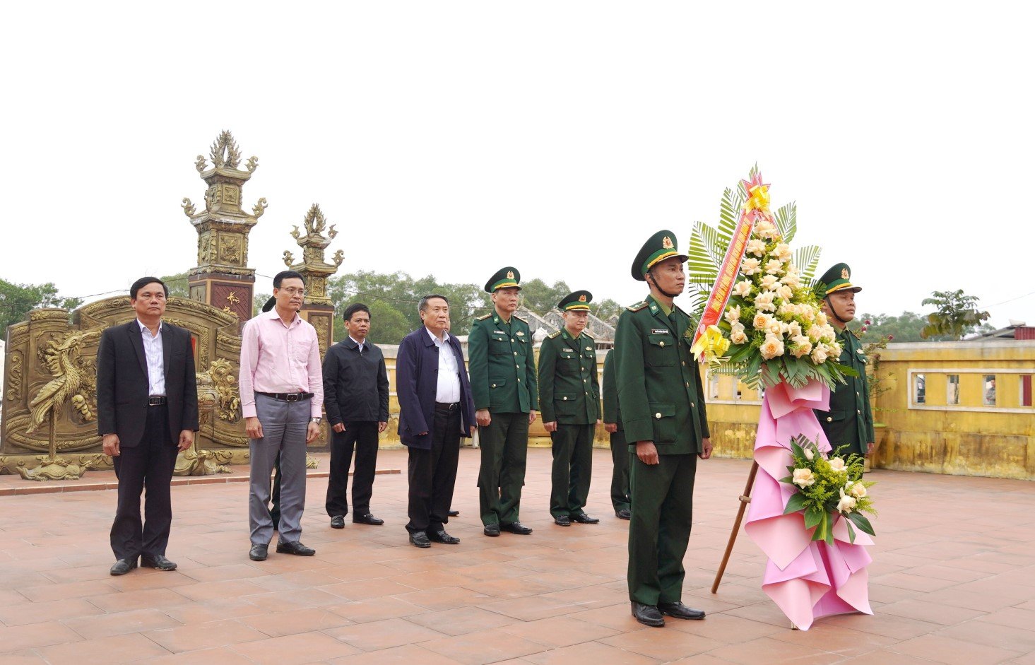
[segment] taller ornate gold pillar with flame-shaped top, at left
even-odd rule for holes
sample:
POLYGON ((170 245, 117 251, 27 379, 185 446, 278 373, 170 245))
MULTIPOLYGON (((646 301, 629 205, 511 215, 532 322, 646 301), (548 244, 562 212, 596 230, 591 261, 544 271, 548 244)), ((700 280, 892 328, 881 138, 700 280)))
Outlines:
POLYGON ((230 132, 223 132, 209 151, 212 168, 198 155, 195 168, 208 185, 205 209, 196 212, 190 199, 183 211, 198 230, 198 266, 187 273, 190 299, 233 314, 241 324, 252 318, 255 270, 248 265, 248 232, 266 210, 266 199, 241 209, 241 187, 252 177, 258 157, 248 158, 246 171, 237 167, 241 155, 230 132))

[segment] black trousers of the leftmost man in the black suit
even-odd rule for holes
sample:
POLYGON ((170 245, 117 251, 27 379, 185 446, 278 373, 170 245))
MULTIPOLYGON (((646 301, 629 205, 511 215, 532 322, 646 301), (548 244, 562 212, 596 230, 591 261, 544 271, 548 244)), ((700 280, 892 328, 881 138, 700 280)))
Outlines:
POLYGON ((169 411, 166 406, 147 409, 144 436, 134 446, 120 446, 113 458, 119 480, 118 507, 112 523, 112 551, 115 558, 136 561, 141 554, 149 557, 166 554, 169 529, 173 525, 170 484, 179 449, 169 440, 169 411), (140 495, 147 490, 144 519, 140 515, 140 495))

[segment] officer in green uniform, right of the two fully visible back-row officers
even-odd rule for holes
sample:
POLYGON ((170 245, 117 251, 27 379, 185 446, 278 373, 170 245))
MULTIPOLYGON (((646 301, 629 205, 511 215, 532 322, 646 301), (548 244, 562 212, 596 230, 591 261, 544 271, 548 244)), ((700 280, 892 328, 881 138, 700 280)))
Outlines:
POLYGON ((564 327, 539 347, 539 408, 553 441, 550 514, 558 526, 600 520, 583 510, 593 472, 593 435, 600 422, 596 340, 586 332, 589 291, 568 293, 557 303, 564 327))

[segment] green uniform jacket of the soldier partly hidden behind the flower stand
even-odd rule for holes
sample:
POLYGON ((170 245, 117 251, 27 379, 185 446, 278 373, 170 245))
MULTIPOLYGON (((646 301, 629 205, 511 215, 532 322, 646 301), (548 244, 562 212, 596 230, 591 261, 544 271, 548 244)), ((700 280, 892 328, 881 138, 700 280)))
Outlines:
POLYGON ((847 328, 837 335, 837 341, 841 345, 838 363, 849 366, 859 376, 846 376, 848 385, 835 385, 830 393, 830 410, 816 409, 816 417, 835 451, 847 445, 849 453, 865 455, 866 444, 875 440, 874 412, 866 385, 866 356, 859 339, 847 328))

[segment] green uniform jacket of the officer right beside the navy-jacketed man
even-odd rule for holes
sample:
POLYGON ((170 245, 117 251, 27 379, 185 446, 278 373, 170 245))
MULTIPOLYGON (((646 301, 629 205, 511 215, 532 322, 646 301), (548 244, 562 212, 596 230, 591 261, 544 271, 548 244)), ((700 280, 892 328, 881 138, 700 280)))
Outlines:
POLYGON ((532 335, 524 319, 511 316, 510 323, 504 323, 496 312, 478 317, 471 325, 467 353, 475 409, 539 410, 532 335))

